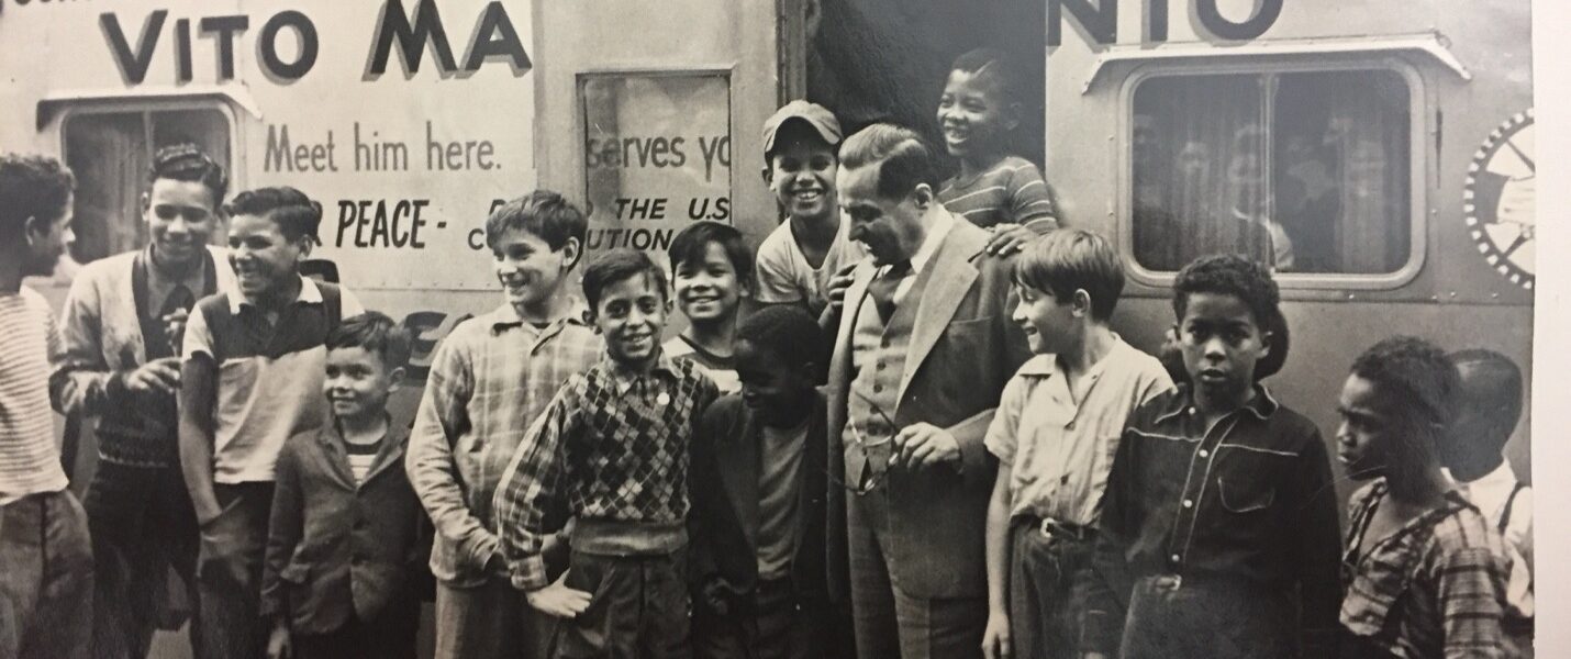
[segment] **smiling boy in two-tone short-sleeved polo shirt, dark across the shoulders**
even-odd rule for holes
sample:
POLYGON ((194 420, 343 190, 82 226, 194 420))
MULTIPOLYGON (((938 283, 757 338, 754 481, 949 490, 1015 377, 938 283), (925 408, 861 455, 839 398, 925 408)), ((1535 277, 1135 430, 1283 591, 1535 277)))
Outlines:
POLYGON ((181 471, 200 526, 198 656, 261 656, 262 551, 273 468, 289 436, 322 425, 324 347, 364 309, 342 287, 300 275, 322 206, 289 188, 248 190, 226 206, 239 293, 196 303, 181 369, 181 471))

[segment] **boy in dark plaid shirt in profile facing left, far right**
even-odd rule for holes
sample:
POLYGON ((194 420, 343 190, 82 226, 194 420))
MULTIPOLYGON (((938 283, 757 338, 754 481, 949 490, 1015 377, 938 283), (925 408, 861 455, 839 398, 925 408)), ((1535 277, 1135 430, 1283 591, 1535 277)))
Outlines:
POLYGON ((1397 336, 1353 362, 1337 413, 1348 475, 1342 579, 1345 659, 1505 657, 1510 559, 1500 535, 1441 472, 1456 369, 1426 340, 1397 336))

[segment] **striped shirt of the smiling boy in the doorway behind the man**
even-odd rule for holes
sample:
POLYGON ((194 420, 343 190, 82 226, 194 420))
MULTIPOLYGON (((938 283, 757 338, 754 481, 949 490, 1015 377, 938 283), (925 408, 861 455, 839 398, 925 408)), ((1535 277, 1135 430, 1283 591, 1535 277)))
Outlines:
POLYGON ((949 212, 983 229, 994 224, 1031 224, 1045 231, 1057 226, 1053 190, 1031 160, 1007 155, 971 180, 954 177, 938 190, 949 212))

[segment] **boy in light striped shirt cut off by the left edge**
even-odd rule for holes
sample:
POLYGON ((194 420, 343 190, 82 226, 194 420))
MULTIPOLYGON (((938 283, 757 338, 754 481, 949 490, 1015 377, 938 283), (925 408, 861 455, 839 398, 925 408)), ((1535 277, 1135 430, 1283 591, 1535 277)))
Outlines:
POLYGON ((49 411, 61 351, 53 314, 22 278, 71 242, 71 169, 0 158, 0 657, 86 657, 93 635, 88 521, 66 490, 49 411))

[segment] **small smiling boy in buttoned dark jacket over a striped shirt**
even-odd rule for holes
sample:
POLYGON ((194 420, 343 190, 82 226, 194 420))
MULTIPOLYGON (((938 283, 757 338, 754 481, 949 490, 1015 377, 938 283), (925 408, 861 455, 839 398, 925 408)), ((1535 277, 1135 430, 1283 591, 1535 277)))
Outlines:
POLYGON ((328 334, 327 350, 333 424, 292 436, 278 457, 262 573, 267 654, 413 657, 423 513, 402 469, 408 433, 386 414, 410 336, 366 312, 328 334))

